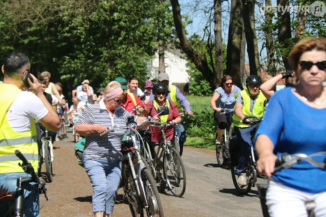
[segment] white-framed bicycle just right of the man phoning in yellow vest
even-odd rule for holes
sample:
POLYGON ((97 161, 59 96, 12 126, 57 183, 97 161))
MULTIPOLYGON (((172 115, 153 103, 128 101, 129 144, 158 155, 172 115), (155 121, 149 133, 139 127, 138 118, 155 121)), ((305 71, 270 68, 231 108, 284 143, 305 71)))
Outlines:
POLYGON ((51 183, 53 181, 53 173, 52 173, 52 162, 53 162, 53 144, 51 137, 48 135, 48 129, 45 128, 45 132, 41 138, 42 145, 40 147, 40 151, 38 153, 38 174, 41 174, 42 163, 45 163, 46 176, 48 182, 51 183))

